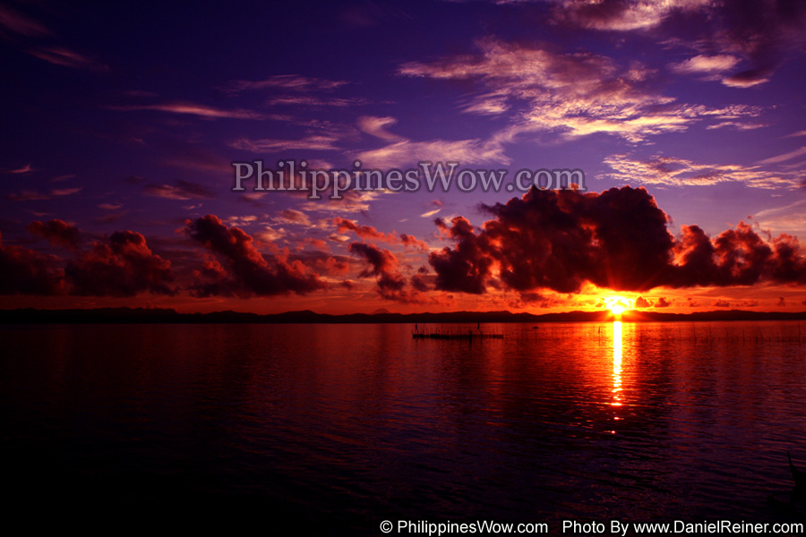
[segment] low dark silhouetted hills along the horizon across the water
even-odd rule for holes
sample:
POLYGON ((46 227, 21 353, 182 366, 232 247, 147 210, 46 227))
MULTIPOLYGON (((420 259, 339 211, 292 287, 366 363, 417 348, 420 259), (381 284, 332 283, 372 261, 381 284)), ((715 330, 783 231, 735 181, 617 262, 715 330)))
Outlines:
MULTIPOLYGON (((489 323, 489 322, 591 322, 613 320, 609 311, 567 311, 563 313, 512 313, 511 311, 450 311, 445 313, 350 313, 330 315, 314 311, 287 311, 259 315, 240 311, 179 313, 169 309, 99 308, 94 310, 0 310, 3 324, 42 323, 489 323)), ((696 320, 806 320, 806 311, 699 311, 666 313, 625 311, 626 322, 674 322, 696 320)))

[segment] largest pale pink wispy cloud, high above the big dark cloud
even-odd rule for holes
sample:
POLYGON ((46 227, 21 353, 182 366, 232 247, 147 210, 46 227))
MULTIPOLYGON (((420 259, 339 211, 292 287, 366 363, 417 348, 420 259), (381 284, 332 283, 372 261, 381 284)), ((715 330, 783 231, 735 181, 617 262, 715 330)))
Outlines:
POLYGON ((513 111, 514 124, 496 132, 490 141, 464 141, 457 148, 467 152, 482 149, 487 160, 504 161, 501 144, 527 132, 556 132, 566 138, 604 132, 638 142, 663 132, 684 131, 703 116, 747 115, 751 111, 750 107, 710 109, 676 104, 674 98, 651 90, 653 71, 635 63, 620 68, 603 55, 563 54, 546 45, 527 47, 493 38, 480 40, 477 46, 478 55, 403 64, 399 74, 477 81, 481 92, 471 98, 466 112, 502 113, 519 107, 513 111))

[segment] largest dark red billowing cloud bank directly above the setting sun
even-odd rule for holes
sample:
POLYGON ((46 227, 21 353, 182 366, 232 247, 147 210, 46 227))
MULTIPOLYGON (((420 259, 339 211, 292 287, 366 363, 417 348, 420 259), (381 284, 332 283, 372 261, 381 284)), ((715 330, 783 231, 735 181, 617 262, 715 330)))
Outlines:
POLYGON ((715 239, 699 226, 683 226, 675 238, 665 212, 643 188, 532 189, 483 209, 493 219, 480 230, 464 217, 450 226, 437 220, 455 243, 430 255, 438 289, 579 293, 586 284, 624 291, 806 284, 806 258, 792 236, 765 240, 740 223, 715 239))

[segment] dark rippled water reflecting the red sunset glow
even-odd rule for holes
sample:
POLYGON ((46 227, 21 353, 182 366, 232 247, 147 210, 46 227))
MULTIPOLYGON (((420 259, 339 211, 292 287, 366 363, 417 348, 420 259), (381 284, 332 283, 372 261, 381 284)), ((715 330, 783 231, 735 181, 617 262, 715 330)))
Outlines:
POLYGON ((0 328, 5 516, 325 535, 789 520, 767 495, 791 489, 786 450, 806 467, 798 323, 412 329, 0 328))

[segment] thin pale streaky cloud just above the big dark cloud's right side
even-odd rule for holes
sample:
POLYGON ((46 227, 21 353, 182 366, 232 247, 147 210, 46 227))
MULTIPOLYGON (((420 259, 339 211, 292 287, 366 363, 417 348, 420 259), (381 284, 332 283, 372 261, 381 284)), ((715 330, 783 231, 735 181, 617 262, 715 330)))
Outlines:
POLYGON ((615 170, 607 174, 624 183, 664 184, 668 186, 708 186, 718 183, 743 183, 752 188, 799 188, 798 171, 771 172, 759 166, 697 164, 685 158, 656 155, 647 160, 626 155, 611 155, 604 163, 615 170))

